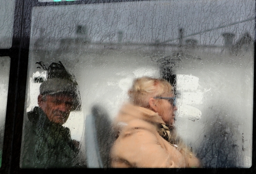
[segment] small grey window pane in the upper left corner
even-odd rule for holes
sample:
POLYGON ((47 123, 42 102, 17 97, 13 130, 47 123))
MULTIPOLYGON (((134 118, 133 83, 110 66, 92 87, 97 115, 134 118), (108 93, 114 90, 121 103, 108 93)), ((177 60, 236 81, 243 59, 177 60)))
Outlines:
POLYGON ((12 46, 15 0, 1 0, 0 3, 0 48, 8 49, 12 46))

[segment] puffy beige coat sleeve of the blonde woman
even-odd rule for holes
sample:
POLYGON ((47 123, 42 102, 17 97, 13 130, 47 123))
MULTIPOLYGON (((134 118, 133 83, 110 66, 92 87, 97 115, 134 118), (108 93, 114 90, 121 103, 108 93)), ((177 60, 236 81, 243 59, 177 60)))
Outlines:
MULTIPOLYGON (((182 155, 175 147, 169 148, 167 152, 154 133, 145 129, 133 130, 118 137, 111 154, 114 156, 112 161, 119 161, 116 164, 123 161, 129 163, 130 167, 185 167, 184 163, 177 162, 182 161, 177 160, 182 158, 182 155)), ((112 167, 118 166, 112 165, 112 167)))

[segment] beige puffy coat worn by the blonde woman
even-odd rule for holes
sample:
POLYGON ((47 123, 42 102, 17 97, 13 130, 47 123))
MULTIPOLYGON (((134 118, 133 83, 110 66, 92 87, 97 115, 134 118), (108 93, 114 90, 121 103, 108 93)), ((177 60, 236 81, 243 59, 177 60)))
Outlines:
MULTIPOLYGON (((200 167, 188 150, 178 150, 159 134, 155 112, 126 104, 115 119, 117 139, 111 149, 111 167, 200 167)), ((179 147, 178 147, 179 148, 179 147)))

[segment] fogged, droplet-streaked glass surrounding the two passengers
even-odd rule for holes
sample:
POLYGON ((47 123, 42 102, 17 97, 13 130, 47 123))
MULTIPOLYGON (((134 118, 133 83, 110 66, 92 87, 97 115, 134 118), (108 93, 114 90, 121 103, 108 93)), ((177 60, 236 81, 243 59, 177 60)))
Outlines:
MULTIPOLYGON (((202 167, 249 168, 254 9, 250 0, 34 7, 23 134, 50 65, 61 61, 81 106, 63 124, 79 142, 76 161, 65 167, 110 167, 111 124, 133 80, 149 76, 175 87, 177 133, 202 167)), ((65 164, 33 158, 21 153, 21 167, 65 164)))

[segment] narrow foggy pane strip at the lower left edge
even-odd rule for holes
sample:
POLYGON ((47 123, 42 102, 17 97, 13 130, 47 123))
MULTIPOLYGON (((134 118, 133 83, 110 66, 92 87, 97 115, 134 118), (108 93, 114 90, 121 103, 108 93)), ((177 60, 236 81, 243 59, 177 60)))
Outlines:
POLYGON ((9 74, 10 74, 10 58, 0 57, 0 97, 1 97, 1 122, 0 122, 0 166, 2 163, 2 150, 3 150, 3 139, 4 139, 4 125, 6 116, 6 106, 7 106, 7 94, 8 94, 8 84, 9 84, 9 74))

